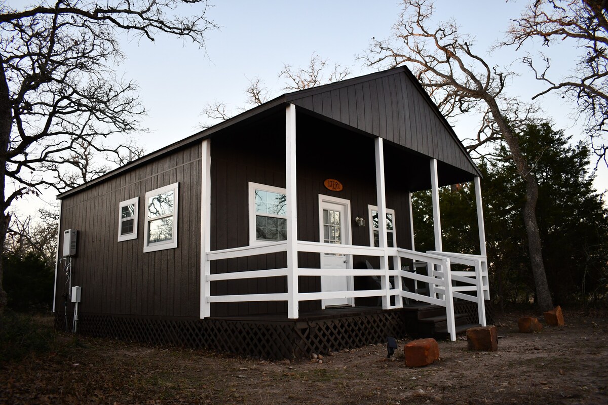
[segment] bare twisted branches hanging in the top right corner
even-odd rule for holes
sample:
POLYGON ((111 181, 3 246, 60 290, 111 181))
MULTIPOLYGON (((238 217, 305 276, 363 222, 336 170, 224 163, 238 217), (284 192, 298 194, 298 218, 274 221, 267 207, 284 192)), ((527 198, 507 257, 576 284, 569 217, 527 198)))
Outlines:
POLYGON ((503 45, 516 45, 541 39, 551 47, 571 41, 579 49, 572 75, 550 78, 551 60, 541 54, 542 66, 532 56, 523 58, 538 80, 547 88, 533 98, 558 92, 575 103, 586 120, 587 134, 598 159, 608 165, 608 0, 535 0, 520 18, 513 21, 503 45))

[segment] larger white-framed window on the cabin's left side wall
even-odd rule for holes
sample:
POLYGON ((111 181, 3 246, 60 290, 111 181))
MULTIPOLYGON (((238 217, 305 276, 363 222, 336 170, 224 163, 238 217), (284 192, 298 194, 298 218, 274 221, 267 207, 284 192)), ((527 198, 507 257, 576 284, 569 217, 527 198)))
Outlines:
POLYGON ((179 183, 146 193, 146 222, 143 251, 178 247, 179 183))

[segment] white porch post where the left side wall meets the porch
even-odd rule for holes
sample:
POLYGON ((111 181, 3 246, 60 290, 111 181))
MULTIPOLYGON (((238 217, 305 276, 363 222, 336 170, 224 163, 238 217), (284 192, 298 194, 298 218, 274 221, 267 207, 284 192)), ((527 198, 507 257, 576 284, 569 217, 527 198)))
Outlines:
POLYGON ((202 141, 201 148, 201 319, 211 316, 211 140, 202 141))

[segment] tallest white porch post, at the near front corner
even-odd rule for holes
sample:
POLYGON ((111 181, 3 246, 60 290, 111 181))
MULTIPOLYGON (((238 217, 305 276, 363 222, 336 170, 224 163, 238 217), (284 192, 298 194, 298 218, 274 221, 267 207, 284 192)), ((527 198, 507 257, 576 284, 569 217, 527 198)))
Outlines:
POLYGON ((285 109, 285 176, 287 192, 287 316, 298 318, 298 220, 295 179, 295 106, 285 109))

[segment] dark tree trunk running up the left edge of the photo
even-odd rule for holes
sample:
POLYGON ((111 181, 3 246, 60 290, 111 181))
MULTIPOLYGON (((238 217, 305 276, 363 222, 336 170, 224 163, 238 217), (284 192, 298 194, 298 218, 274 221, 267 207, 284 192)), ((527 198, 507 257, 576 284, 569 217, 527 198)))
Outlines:
POLYGON ((9 228, 9 216, 5 213, 6 199, 4 188, 6 183, 6 162, 9 149, 10 131, 13 123, 12 104, 10 102, 9 84, 4 74, 4 58, 0 55, 0 315, 7 304, 7 295, 2 287, 4 279, 4 241, 9 228))

